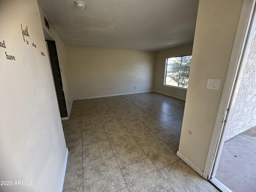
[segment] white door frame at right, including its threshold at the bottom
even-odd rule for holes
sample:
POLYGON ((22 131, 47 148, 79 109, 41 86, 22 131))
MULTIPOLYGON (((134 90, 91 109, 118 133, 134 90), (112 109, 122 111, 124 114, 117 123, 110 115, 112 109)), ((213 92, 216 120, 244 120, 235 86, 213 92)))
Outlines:
POLYGON ((221 182, 219 183, 216 181, 215 174, 230 122, 229 114, 231 114, 232 107, 234 106, 237 90, 239 88, 243 70, 246 65, 249 48, 254 37, 254 29, 256 26, 256 17, 254 16, 255 4, 256 0, 244 0, 243 2, 228 66, 228 72, 222 91, 218 114, 212 134, 212 140, 203 173, 203 178, 210 180, 210 182, 212 182, 218 188, 222 187, 222 189, 220 188, 222 191, 228 190, 224 189, 221 182))

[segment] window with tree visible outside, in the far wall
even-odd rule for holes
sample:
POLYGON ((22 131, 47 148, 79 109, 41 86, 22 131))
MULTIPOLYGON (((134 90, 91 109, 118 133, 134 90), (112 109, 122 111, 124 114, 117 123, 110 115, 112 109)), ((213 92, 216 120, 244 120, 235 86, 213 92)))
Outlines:
POLYGON ((164 85, 188 88, 188 76, 192 56, 167 58, 164 85))

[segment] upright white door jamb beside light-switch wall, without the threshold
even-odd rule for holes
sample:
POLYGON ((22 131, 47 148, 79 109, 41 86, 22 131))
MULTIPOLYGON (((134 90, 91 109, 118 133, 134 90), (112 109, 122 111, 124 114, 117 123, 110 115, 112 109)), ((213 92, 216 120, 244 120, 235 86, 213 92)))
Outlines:
POLYGON ((224 133, 224 130, 226 128, 224 128, 224 125, 236 82, 236 76, 238 74, 240 62, 242 60, 242 55, 244 52, 248 31, 250 28, 250 20, 252 19, 254 6, 255 0, 245 0, 242 6, 240 20, 238 22, 238 29, 234 40, 234 46, 228 65, 228 72, 226 75, 224 88, 220 99, 218 114, 214 124, 212 140, 210 143, 206 164, 204 167, 203 178, 207 180, 215 177, 222 146, 225 140, 224 137, 226 137, 224 133))

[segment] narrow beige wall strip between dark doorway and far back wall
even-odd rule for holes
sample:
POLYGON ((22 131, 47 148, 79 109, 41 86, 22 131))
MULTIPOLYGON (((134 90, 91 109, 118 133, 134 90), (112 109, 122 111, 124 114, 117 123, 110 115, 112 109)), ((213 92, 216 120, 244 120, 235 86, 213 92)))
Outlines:
POLYGON ((64 91, 64 96, 65 96, 65 101, 66 101, 66 107, 68 111, 68 116, 70 116, 70 111, 72 107, 72 102, 73 102, 73 96, 72 92, 70 90, 70 85, 68 82, 68 60, 67 60, 67 55, 66 55, 66 46, 54 30, 52 26, 50 25, 51 32, 49 32, 48 28, 44 26, 44 16, 47 15, 44 14, 42 8, 39 6, 39 12, 40 12, 40 17, 41 17, 41 22, 42 26, 45 30, 45 32, 52 38, 52 40, 55 41, 56 48, 57 48, 57 54, 58 54, 58 61, 60 65, 60 75, 62 79, 62 85, 63 85, 63 91, 64 91))

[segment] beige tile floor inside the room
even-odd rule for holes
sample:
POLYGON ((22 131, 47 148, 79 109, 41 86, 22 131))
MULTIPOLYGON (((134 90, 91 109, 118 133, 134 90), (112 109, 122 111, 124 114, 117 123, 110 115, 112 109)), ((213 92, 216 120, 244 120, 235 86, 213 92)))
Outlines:
POLYGON ((176 156, 184 104, 156 92, 74 101, 63 190, 217 192, 176 156))

